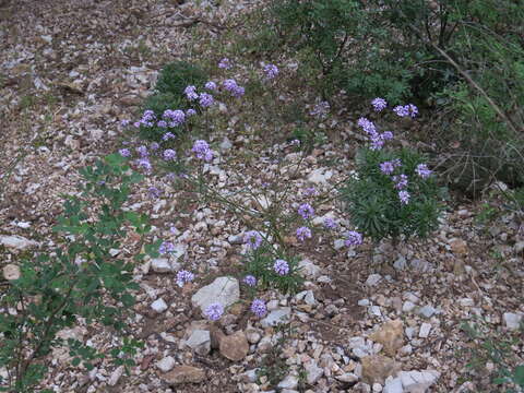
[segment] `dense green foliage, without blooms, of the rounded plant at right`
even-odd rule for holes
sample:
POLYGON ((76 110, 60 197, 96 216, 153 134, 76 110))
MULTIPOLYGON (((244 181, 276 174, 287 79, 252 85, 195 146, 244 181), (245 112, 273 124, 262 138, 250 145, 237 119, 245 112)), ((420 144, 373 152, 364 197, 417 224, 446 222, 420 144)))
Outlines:
POLYGON ((442 190, 434 176, 424 179, 417 174, 417 166, 424 164, 420 155, 406 148, 362 148, 356 160, 356 175, 341 189, 341 196, 358 230, 376 241, 383 238, 396 241, 401 235, 424 238, 436 229, 442 209, 442 190), (395 159, 400 159, 401 165, 391 176, 384 175, 380 165, 395 159), (401 201, 392 179, 401 174, 407 176, 407 187, 403 190, 410 195, 408 203, 401 201))

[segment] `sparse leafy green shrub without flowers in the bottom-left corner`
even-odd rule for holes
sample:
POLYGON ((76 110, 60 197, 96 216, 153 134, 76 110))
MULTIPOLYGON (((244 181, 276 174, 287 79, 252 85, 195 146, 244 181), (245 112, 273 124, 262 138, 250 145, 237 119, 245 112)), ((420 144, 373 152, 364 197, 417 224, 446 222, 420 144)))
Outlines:
POLYGON ((109 155, 81 174, 82 192, 64 195, 64 212, 53 228, 67 235, 63 247, 20 261, 20 278, 10 281, 0 297, 0 368, 9 374, 7 380, 0 378, 0 391, 34 392, 47 372, 43 358, 63 345, 69 347, 73 366, 82 364, 88 370, 94 360, 107 356, 117 366, 134 365, 132 356, 141 344, 128 336, 126 318, 139 286, 133 282, 134 264, 114 250, 120 248, 129 229, 142 240, 151 229, 147 216, 122 209, 142 176, 119 155, 109 155), (90 217, 87 206, 98 206, 95 217, 90 217), (79 319, 87 325, 110 326, 122 344, 98 353, 79 340, 60 338, 58 333, 76 326, 79 319))

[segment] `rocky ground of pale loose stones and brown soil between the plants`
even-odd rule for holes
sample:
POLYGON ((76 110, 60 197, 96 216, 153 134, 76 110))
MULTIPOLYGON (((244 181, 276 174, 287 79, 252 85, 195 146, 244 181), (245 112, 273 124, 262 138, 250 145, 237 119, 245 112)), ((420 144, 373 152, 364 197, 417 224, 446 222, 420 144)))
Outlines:
MULTIPOLYGON (((210 40, 226 47, 226 33, 255 5, 247 0, 218 5, 0 2, 0 266, 15 262, 21 251, 50 246, 61 194, 74 191, 80 167, 121 147, 120 121, 136 119, 162 66, 210 40)), ((221 58, 219 49, 214 56, 221 58)), ((293 70, 291 62, 283 67, 284 74, 293 70)), ((290 102, 294 93, 283 92, 281 99, 290 102)), ((290 184, 298 205, 308 198, 306 188, 330 190, 352 170, 349 152, 360 143, 356 115, 341 110, 337 121, 318 126, 338 136, 312 150, 297 176, 286 169, 298 159, 289 144, 246 133, 246 114, 242 107, 223 112, 226 127, 210 139, 218 153, 205 166, 213 187, 228 192, 251 184, 261 192, 264 181, 276 179, 290 184), (246 158, 253 146, 259 155, 246 158), (275 155, 278 165, 271 164, 275 155)), ((259 319, 249 311, 238 279, 246 251, 241 239, 250 228, 215 205, 201 203, 180 213, 183 198, 155 176, 132 196, 130 209, 154 218, 154 236, 177 247, 169 259, 148 260, 134 272, 141 291, 131 323, 145 344, 138 367, 126 376, 122 367, 99 362, 87 372, 72 367, 67 350, 58 348, 43 388, 88 393, 488 391, 486 376, 495 365, 488 362, 474 377, 466 372, 461 349, 474 343, 461 324, 481 319, 500 335, 520 334, 524 234, 515 214, 486 227, 475 221, 479 204, 454 203, 428 240, 396 250, 388 242, 347 249, 348 217, 338 204, 325 203, 314 223, 320 227, 324 217, 335 217, 338 229, 293 245, 301 255, 303 290, 261 294, 269 313, 259 319), (157 199, 147 195, 152 186, 163 190, 157 199), (171 224, 176 230, 169 230, 171 224), (176 285, 181 266, 196 275, 183 288, 176 285), (230 307, 211 322, 202 310, 217 298, 230 307), (276 383, 274 374, 264 374, 272 365, 284 371, 276 383)), ((7 279, 10 274, 4 270, 7 279)), ((81 325, 61 335, 98 348, 114 345, 102 329, 81 325)), ((522 337, 512 353, 522 364, 522 337)))

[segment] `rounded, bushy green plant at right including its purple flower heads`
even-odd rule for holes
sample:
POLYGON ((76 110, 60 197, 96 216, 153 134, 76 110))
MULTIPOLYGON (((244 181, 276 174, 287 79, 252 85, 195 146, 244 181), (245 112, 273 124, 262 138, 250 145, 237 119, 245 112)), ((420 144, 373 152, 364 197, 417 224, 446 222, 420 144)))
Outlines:
MULTIPOLYGON (((372 105, 385 108, 382 100, 374 99, 372 105)), ((413 105, 393 110, 401 117, 417 112, 413 105)), ((437 228, 443 190, 425 157, 409 148, 390 147, 385 132, 379 132, 370 120, 362 118, 359 124, 371 143, 358 152, 356 176, 341 189, 352 223, 374 241, 391 238, 396 243, 401 236, 427 237, 437 228)))

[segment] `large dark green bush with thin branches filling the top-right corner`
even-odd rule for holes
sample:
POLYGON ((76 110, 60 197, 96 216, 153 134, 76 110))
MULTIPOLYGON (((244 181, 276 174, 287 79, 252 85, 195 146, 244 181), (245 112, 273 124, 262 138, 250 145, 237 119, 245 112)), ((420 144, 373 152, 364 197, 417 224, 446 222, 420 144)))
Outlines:
POLYGON ((524 183, 517 1, 285 0, 267 17, 274 37, 298 50, 302 69, 322 75, 324 97, 343 88, 354 98, 410 98, 437 109, 440 132, 431 143, 458 189, 476 194, 493 179, 524 183))

